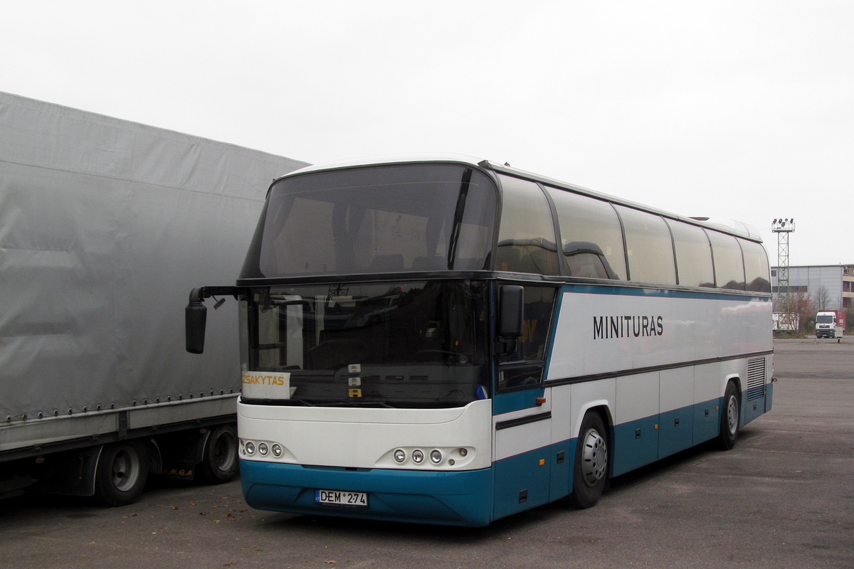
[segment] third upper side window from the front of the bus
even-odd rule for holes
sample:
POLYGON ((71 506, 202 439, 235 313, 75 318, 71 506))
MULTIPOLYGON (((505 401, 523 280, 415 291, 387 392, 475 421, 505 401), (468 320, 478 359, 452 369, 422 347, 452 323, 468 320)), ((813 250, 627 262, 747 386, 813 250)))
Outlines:
POLYGON ((626 232, 629 278, 638 282, 676 284, 673 241, 664 219, 629 207, 616 207, 626 232))

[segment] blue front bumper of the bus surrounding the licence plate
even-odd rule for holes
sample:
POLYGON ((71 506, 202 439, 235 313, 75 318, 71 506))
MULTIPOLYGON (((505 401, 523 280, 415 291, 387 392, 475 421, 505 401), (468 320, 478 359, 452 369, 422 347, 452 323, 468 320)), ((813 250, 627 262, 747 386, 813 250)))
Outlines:
POLYGON ((488 525, 492 519, 493 473, 419 472, 360 468, 302 467, 240 461, 243 496, 249 506, 295 514, 440 525, 488 525), (367 492, 368 505, 314 502, 315 490, 367 492))

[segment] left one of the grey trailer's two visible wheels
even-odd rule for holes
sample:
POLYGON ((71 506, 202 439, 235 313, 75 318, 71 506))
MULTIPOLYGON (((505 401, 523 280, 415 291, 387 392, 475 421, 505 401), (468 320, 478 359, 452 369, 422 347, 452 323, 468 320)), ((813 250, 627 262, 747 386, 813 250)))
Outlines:
POLYGON ((149 477, 149 453, 139 441, 105 444, 95 471, 95 499, 104 506, 136 502, 149 477))

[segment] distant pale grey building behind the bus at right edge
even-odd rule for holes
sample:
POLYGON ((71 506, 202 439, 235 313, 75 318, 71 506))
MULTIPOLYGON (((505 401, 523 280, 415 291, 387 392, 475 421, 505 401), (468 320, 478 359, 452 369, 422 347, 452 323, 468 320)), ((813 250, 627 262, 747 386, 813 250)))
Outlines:
MULTIPOLYGON (((771 267, 771 291, 777 299, 777 269, 771 267)), ((808 293, 817 302, 822 292, 827 310, 849 310, 854 299, 854 264, 819 264, 789 267, 789 292, 808 293), (822 289, 823 287, 823 289, 822 289)))

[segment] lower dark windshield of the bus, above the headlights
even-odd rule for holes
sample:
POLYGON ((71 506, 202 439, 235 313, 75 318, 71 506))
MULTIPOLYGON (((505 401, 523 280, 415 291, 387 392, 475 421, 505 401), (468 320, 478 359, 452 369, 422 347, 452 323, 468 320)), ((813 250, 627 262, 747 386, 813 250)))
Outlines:
POLYGON ((241 301, 241 361, 290 374, 290 399, 267 403, 465 405, 487 397, 486 289, 458 280, 253 288, 241 301))

